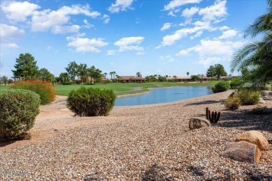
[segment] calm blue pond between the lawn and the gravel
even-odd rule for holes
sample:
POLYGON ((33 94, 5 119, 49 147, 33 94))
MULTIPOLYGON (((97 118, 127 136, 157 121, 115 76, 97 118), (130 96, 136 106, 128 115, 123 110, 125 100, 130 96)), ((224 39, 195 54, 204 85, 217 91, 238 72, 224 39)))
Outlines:
POLYGON ((213 91, 211 91, 211 86, 173 86, 169 88, 152 88, 150 93, 129 97, 119 97, 115 101, 115 106, 134 106, 174 102, 212 93, 213 91))

